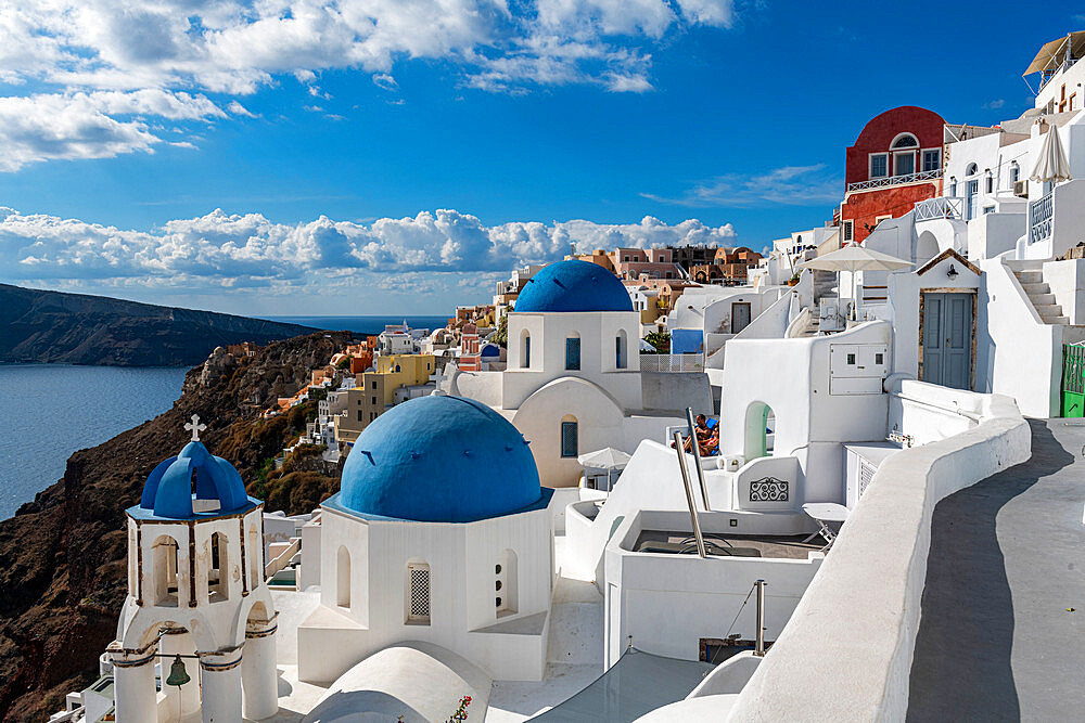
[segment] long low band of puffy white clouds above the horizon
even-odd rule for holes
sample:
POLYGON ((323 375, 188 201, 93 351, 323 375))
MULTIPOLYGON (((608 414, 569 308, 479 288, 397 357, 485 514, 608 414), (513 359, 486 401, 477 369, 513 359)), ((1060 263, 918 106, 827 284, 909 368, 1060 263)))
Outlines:
POLYGON ((319 286, 357 270, 385 275, 421 272, 490 280, 528 261, 553 261, 600 247, 732 244, 730 224, 697 220, 668 225, 585 220, 509 222, 487 227, 469 214, 441 209, 413 218, 370 223, 321 216, 297 224, 259 214, 177 219, 153 231, 135 231, 0 207, 0 279, 14 282, 144 279, 149 286, 252 288, 267 284, 319 286))

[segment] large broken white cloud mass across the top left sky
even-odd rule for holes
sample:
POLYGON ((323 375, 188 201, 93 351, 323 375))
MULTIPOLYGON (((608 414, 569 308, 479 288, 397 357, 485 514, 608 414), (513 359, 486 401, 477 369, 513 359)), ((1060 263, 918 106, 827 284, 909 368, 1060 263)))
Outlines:
MULTIPOLYGON (((149 150, 157 137, 119 116, 208 122, 226 115, 208 94, 250 94, 281 75, 326 100, 315 85, 324 70, 360 70, 394 89, 394 66, 412 59, 446 61, 464 85, 487 90, 593 83, 644 92, 654 43, 675 28, 729 27, 732 17, 731 0, 3 3, 0 82, 34 89, 3 100, 49 105, 71 127, 59 138, 33 119, 9 129, 21 141, 0 143, 0 170, 149 150), (92 102, 76 102, 80 93, 92 102)), ((246 115, 235 99, 219 103, 246 115)))

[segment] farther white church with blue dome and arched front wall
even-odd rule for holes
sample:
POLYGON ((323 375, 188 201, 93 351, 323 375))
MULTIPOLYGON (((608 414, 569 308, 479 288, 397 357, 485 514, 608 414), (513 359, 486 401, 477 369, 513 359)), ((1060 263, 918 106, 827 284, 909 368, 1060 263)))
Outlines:
POLYGON ((547 487, 575 486, 582 452, 633 452, 684 410, 711 412, 703 373, 640 371, 640 315, 611 272, 567 260, 536 273, 509 314, 503 372, 449 367, 439 388, 500 411, 531 442, 547 487))

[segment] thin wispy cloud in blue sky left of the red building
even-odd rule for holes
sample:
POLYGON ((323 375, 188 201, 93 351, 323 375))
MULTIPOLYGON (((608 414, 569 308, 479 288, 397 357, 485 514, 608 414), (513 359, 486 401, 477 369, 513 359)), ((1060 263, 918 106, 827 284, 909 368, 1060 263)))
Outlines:
POLYGON ((816 206, 841 198, 843 180, 825 172, 825 164, 784 166, 762 173, 725 173, 694 183, 677 196, 641 193, 663 204, 688 207, 816 206))

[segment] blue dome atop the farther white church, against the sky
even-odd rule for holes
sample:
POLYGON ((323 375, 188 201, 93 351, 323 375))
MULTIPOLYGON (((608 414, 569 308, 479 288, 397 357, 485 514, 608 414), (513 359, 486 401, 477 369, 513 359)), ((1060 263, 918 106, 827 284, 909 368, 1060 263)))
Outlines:
POLYGON ((514 311, 633 311, 633 301, 617 276, 598 263, 574 259, 532 276, 514 311))

